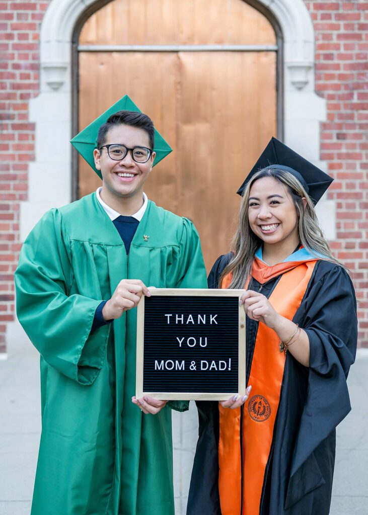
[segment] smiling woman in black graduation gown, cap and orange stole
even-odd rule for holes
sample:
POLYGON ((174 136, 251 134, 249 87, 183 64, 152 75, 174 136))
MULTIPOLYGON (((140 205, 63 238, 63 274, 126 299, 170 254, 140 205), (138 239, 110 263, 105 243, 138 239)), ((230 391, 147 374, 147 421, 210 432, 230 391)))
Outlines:
POLYGON ((357 345, 354 288, 314 212, 331 182, 273 138, 238 192, 233 252, 208 282, 247 289, 248 388, 239 399, 197 402, 187 515, 329 513, 357 345))

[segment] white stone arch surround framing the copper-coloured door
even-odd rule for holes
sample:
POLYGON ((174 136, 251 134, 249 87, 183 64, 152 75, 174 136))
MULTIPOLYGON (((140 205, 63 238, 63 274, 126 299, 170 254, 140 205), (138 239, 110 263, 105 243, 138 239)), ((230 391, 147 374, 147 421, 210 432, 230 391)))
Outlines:
MULTIPOLYGON (((94 4, 106 1, 52 0, 41 25, 41 92, 29 102, 30 121, 36 123, 36 161, 29 166, 29 198, 21 204, 22 240, 45 211, 71 201, 72 37, 80 16, 94 4)), ((314 93, 309 12, 303 0, 258 4, 273 13, 283 35, 285 142, 320 164, 319 122, 325 119, 325 100, 314 93)), ((327 218, 332 219, 330 213, 327 218)))

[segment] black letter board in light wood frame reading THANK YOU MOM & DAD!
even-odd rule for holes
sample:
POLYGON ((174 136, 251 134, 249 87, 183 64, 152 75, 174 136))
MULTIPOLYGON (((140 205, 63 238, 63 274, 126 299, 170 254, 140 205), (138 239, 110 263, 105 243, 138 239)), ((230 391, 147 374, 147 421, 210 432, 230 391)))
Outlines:
POLYGON ((136 397, 227 400, 245 394, 240 289, 150 289, 137 319, 136 397))

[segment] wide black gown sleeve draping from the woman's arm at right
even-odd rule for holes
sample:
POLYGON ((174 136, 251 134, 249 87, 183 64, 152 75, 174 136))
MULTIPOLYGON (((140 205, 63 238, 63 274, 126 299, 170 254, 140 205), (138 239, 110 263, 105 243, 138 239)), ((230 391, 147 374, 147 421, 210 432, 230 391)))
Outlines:
MULTIPOLYGON (((308 334, 310 363, 286 507, 292 506, 303 495, 299 490, 305 489, 305 483, 308 483, 305 465, 314 461, 315 450, 351 409, 346 377, 354 363, 357 347, 355 291, 341 266, 325 262, 321 263, 321 269, 328 271, 313 284, 294 319, 308 334), (300 314, 302 317, 298 316, 300 314), (301 475, 304 476, 302 482, 301 475)), ((323 467, 320 463, 320 468, 323 467)))

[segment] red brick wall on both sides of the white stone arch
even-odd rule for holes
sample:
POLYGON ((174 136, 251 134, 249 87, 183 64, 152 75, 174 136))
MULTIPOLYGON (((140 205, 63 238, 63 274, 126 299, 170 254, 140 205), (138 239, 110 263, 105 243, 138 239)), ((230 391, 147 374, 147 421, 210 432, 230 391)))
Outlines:
MULTIPOLYGON (((337 241, 359 299, 359 342, 368 347, 368 2, 305 0, 316 39, 315 89, 327 100, 321 159, 335 179, 337 241)), ((39 30, 49 0, 0 0, 0 352, 14 318, 13 272, 21 246, 20 202, 34 160, 28 99, 39 93, 39 30)))

